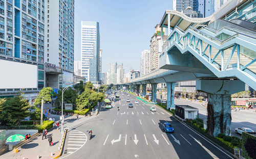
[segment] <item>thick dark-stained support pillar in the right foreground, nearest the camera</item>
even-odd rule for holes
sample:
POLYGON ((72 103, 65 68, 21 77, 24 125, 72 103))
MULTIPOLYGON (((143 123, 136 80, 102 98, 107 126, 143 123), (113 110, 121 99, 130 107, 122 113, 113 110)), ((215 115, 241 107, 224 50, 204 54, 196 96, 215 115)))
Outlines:
POLYGON ((231 95, 208 94, 207 128, 211 136, 223 133, 230 135, 231 126, 231 95))

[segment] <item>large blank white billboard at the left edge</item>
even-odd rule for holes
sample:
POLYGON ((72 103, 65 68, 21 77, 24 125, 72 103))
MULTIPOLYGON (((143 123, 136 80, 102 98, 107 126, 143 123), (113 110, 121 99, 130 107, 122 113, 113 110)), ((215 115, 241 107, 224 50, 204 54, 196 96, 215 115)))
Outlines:
POLYGON ((0 60, 0 89, 37 88, 37 65, 0 60))

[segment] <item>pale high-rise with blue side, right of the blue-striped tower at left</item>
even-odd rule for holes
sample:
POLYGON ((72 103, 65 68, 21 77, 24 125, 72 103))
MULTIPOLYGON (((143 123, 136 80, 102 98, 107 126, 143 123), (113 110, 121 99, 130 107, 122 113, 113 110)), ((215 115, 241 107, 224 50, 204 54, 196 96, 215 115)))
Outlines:
POLYGON ((74 0, 46 2, 45 62, 74 72, 74 0))

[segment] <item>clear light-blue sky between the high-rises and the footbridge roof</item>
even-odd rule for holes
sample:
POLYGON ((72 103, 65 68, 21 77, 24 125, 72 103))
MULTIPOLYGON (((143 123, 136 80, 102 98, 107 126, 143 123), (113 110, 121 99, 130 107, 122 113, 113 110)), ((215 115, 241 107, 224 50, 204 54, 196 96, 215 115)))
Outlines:
POLYGON ((98 21, 102 72, 116 62, 125 73, 140 70, 141 52, 150 50, 155 26, 172 9, 172 0, 75 0, 75 61, 81 60, 81 21, 98 21))

